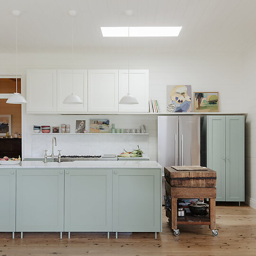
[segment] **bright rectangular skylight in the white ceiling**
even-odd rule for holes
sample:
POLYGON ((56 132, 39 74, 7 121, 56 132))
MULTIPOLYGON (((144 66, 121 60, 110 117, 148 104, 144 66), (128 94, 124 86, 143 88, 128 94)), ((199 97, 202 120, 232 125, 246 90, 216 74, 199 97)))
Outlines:
POLYGON ((182 27, 101 27, 103 37, 178 37, 182 27))

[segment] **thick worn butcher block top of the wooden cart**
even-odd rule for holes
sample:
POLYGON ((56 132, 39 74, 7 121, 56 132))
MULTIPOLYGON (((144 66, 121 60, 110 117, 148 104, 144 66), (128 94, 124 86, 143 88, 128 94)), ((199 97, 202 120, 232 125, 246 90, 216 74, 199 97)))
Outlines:
POLYGON ((215 187, 217 173, 202 166, 165 167, 165 180, 171 187, 215 187))

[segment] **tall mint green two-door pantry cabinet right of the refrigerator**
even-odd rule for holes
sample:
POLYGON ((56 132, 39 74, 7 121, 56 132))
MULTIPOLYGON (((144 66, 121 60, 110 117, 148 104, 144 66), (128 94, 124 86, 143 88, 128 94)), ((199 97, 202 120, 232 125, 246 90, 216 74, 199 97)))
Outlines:
POLYGON ((217 172, 217 201, 245 201, 244 122, 235 115, 202 118, 202 165, 217 172))

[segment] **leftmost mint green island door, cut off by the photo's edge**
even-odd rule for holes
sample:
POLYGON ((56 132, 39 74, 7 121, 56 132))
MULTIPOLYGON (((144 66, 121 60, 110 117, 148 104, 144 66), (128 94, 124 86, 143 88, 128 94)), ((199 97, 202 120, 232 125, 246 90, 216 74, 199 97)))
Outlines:
POLYGON ((16 171, 0 170, 0 232, 15 231, 16 215, 16 171))

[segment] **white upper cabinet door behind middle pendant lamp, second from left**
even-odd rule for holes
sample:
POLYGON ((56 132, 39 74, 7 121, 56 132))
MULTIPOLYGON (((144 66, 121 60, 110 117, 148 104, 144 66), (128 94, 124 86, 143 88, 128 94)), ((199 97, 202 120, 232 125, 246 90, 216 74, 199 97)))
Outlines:
POLYGON ((57 111, 87 112, 87 70, 58 69, 57 70, 57 111), (73 83, 72 83, 73 79, 73 83), (74 89, 72 89, 72 87, 74 89), (64 99, 72 94, 78 95, 82 104, 64 104, 64 99))

